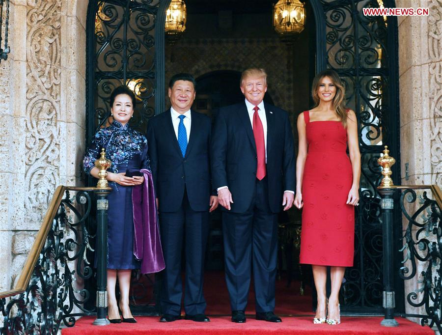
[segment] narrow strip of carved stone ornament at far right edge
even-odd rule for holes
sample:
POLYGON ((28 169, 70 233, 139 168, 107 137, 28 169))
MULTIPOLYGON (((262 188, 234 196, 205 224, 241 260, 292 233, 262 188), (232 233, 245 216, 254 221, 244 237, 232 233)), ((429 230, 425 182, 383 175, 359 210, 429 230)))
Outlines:
POLYGON ((432 184, 442 185, 442 0, 428 4, 432 184))

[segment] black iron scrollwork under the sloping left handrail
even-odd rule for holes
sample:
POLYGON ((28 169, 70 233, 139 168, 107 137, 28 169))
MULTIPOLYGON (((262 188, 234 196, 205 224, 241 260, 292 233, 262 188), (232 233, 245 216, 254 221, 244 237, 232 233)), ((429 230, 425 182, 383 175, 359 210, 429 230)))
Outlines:
POLYGON ((60 326, 72 327, 76 317, 94 313, 84 307, 91 296, 83 288, 93 274, 86 257, 94 237, 85 223, 90 210, 88 192, 66 191, 28 288, 0 299, 1 334, 57 334, 60 326))

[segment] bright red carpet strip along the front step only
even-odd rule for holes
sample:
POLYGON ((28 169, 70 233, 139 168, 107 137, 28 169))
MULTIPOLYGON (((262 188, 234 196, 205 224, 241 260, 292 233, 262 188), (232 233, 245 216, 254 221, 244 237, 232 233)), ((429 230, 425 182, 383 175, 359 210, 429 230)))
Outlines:
POLYGON ((109 326, 92 326, 93 317, 83 317, 78 320, 75 327, 63 329, 62 335, 110 335, 110 334, 146 334, 146 335, 434 335, 429 327, 419 326, 403 318, 396 318, 399 327, 382 327, 379 323, 382 317, 343 317, 342 323, 337 326, 313 325, 311 317, 288 316, 282 319, 282 323, 275 324, 265 321, 257 321, 248 318, 246 323, 235 324, 230 322, 227 316, 212 317, 209 323, 196 323, 188 320, 178 320, 170 323, 158 322, 157 316, 138 316, 138 323, 120 323, 109 326))

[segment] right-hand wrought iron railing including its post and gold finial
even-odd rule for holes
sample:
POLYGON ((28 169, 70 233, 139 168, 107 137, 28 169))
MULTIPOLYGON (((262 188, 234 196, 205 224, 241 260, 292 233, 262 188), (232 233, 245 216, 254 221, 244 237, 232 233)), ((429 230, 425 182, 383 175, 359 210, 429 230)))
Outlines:
MULTIPOLYGON (((393 277, 405 281, 405 313, 442 333, 442 193, 438 185, 392 185, 390 167, 394 159, 379 159, 385 176, 378 187, 382 195, 384 225, 384 299, 385 318, 382 324, 398 326, 394 320, 395 292, 393 277), (400 195, 400 196, 399 196, 400 195), (394 203, 399 200, 403 214, 402 267, 393 268, 392 223, 394 203), (407 289, 408 287, 408 289, 407 289)), ((387 157, 387 158, 386 158, 387 157)), ((397 202, 396 202, 397 203, 397 202)))

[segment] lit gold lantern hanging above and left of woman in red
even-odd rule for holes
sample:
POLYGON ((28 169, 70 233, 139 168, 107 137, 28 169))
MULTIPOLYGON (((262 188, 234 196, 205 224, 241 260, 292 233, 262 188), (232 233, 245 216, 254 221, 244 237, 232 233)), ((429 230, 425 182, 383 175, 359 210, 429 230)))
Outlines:
POLYGON ((273 26, 281 39, 293 43, 294 38, 304 30, 305 8, 299 0, 279 0, 273 6, 273 26))

